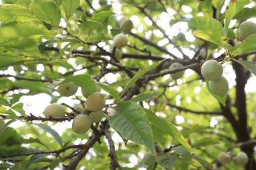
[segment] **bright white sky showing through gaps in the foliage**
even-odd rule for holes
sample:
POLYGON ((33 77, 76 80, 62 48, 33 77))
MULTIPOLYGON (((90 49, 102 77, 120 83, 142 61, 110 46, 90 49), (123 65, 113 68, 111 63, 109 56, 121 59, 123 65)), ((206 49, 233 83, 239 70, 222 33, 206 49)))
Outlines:
MULTIPOLYGON (((121 12, 121 4, 119 3, 119 1, 114 0, 111 1, 113 4, 113 9, 114 12, 117 13, 117 19, 121 19, 122 17, 122 12, 121 12)), ((228 4, 229 1, 226 1, 226 5, 228 4)), ((108 3, 110 3, 110 1, 108 0, 108 3)), ((0 4, 1 4, 1 0, 0 0, 0 4)), ((94 6, 94 8, 98 8, 98 2, 94 1, 94 3, 92 4, 94 6)), ((249 6, 253 6, 254 3, 251 3, 249 6)), ((191 11, 190 7, 187 6, 183 6, 182 9, 186 12, 186 11, 191 11)), ((225 9, 225 7, 223 8, 225 9)), ((172 38, 173 36, 176 36, 179 32, 183 32, 187 38, 187 40, 189 42, 193 42, 193 40, 195 40, 195 37, 191 34, 191 32, 188 30, 187 27, 187 23, 185 22, 179 22, 178 24, 175 24, 174 26, 170 26, 168 23, 168 21, 171 19, 170 16, 172 16, 172 14, 174 13, 174 11, 172 9, 167 9, 168 13, 162 13, 162 15, 160 15, 160 19, 158 19, 157 24, 164 28, 164 30, 166 30, 166 34, 168 34, 170 36, 170 38, 172 38)), ((187 17, 191 17, 189 15, 186 15, 187 17)), ((138 17, 136 15, 131 16, 131 20, 133 21, 133 24, 135 26, 135 28, 138 28, 138 30, 132 30, 134 33, 136 32, 143 32, 143 26, 140 25, 140 21, 138 19, 138 17)), ((148 24, 152 24, 147 18, 144 19, 146 22, 148 22, 148 24)), ((256 19, 250 19, 253 22, 256 22, 256 19)), ((63 23, 62 23, 63 24, 63 23)), ((235 20, 232 20, 230 27, 232 27, 234 24, 236 24, 235 20)), ((162 37, 162 33, 158 32, 158 31, 154 31, 154 34, 156 36, 160 36, 162 37)), ((146 34, 147 36, 147 34, 146 34)), ((161 40, 160 42, 158 42, 158 45, 162 46, 168 43, 168 40, 166 40, 166 38, 164 38, 163 40, 161 40)), ((104 44, 100 44, 100 45, 104 45, 104 44)), ((181 56, 180 52, 177 51, 176 48, 173 48, 173 46, 170 44, 167 46, 168 50, 170 52, 172 52, 172 54, 175 54, 177 56, 181 56)), ((106 50, 110 49, 110 46, 106 46, 104 47, 106 50)), ((193 52, 192 50, 187 50, 184 49, 185 54, 189 54, 190 56, 193 56, 193 54, 195 52, 193 52)), ((224 50, 220 50, 220 52, 218 52, 218 54, 222 54, 222 52, 224 52, 224 50)), ((218 55, 216 55, 218 56, 218 55)), ((71 64, 73 64, 73 59, 71 58, 69 60, 69 62, 71 64)), ((37 67, 38 70, 42 70, 43 67, 42 65, 38 65, 37 67)), ((65 70, 60 69, 59 70, 61 73, 65 70)), ((0 71, 1 74, 6 73, 6 74, 11 74, 11 75, 15 75, 15 71, 13 71, 13 69, 11 67, 9 67, 8 71, 0 71)), ((83 72, 79 72, 79 73, 83 73, 83 72)), ((185 77, 188 77, 189 75, 193 74, 193 71, 191 70, 187 70, 185 72, 185 77)), ((78 74, 78 73, 76 73, 78 74)), ((110 81, 116 81, 116 77, 113 74, 109 74, 106 75, 107 79, 110 81)), ((234 71, 232 70, 232 67, 229 64, 225 64, 224 65, 224 77, 226 77, 226 79, 228 79, 228 83, 230 84, 230 87, 233 87, 235 85, 235 74, 234 71)), ((255 89, 255 84, 256 84, 256 77, 255 76, 251 76, 251 78, 249 79, 245 90, 247 92, 256 92, 255 89)), ((201 87, 199 87, 201 88, 201 87)), ((57 92, 56 92, 57 93, 57 92)), ((77 92, 77 95, 82 95, 80 89, 77 92)), ((61 99, 59 99, 59 101, 57 103, 68 103, 69 105, 73 105, 73 103, 77 102, 74 99, 72 99, 73 97, 61 97, 61 99)), ((46 108, 47 105, 50 104, 51 101, 51 97, 49 95, 46 95, 44 93, 40 93, 38 95, 33 95, 33 96, 26 96, 24 95, 23 97, 21 97, 20 102, 24 103, 24 110, 26 112, 26 114, 34 114, 35 116, 43 116, 42 112, 44 111, 44 108, 46 108)), ((214 126, 214 124, 217 124, 218 121, 216 119, 212 120, 213 122, 211 122, 211 126, 214 126)), ((177 122, 178 123, 182 123, 184 122, 184 118, 183 116, 177 116, 177 122)), ((10 125, 10 127, 13 128, 18 128, 20 126, 24 126, 25 123, 17 121, 13 124, 10 125)), ((52 123, 51 123, 52 124, 52 123)), ((57 132, 59 132, 59 134, 61 135, 64 131, 65 128, 71 128, 71 122, 62 122, 62 123, 57 123, 54 126, 51 126, 52 128, 54 128, 55 130, 57 130, 57 132), (63 128, 65 127, 65 128, 63 128)), ((114 135, 114 140, 115 141, 121 141, 120 137, 118 135, 114 135)), ((142 154, 139 153, 139 155, 142 157, 142 154)), ((137 164, 137 159, 131 159, 131 162, 133 164, 137 164)), ((129 166, 133 166, 132 164, 129 166)))

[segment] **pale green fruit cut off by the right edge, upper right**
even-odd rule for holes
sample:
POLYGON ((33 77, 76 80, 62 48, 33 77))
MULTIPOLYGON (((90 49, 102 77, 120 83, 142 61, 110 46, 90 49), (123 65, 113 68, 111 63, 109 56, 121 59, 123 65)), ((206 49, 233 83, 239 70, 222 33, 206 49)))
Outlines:
POLYGON ((256 34, 256 24, 254 22, 243 22, 238 30, 242 40, 245 40, 251 34, 256 34))

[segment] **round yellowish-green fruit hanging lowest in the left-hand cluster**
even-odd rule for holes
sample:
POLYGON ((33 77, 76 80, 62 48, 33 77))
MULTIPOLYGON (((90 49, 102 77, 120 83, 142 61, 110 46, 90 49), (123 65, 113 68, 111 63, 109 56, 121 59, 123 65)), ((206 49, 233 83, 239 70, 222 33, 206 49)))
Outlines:
POLYGON ((91 124, 92 121, 89 116, 85 114, 79 114, 73 119, 72 129, 77 134, 84 134, 90 129, 91 124))

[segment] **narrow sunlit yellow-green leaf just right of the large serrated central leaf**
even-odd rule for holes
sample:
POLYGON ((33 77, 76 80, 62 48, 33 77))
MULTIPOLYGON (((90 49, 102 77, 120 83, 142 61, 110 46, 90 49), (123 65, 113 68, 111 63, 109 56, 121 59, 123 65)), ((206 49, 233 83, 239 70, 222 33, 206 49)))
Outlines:
POLYGON ((180 144, 182 144, 190 153, 193 153, 193 150, 187 140, 182 136, 181 132, 178 128, 172 124, 172 122, 168 122, 163 118, 159 118, 156 116, 152 111, 145 110, 146 114, 148 115, 148 119, 150 123, 154 124, 154 126, 158 127, 160 130, 165 132, 166 134, 172 136, 175 140, 177 140, 180 144))

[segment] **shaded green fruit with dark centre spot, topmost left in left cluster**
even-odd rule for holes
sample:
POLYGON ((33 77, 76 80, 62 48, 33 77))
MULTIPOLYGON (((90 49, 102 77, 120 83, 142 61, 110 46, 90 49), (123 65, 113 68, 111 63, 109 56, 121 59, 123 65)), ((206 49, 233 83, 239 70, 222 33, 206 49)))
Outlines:
POLYGON ((68 82, 59 85, 57 91, 61 94, 61 96, 71 96, 76 93, 77 89, 78 87, 73 82, 68 82))

